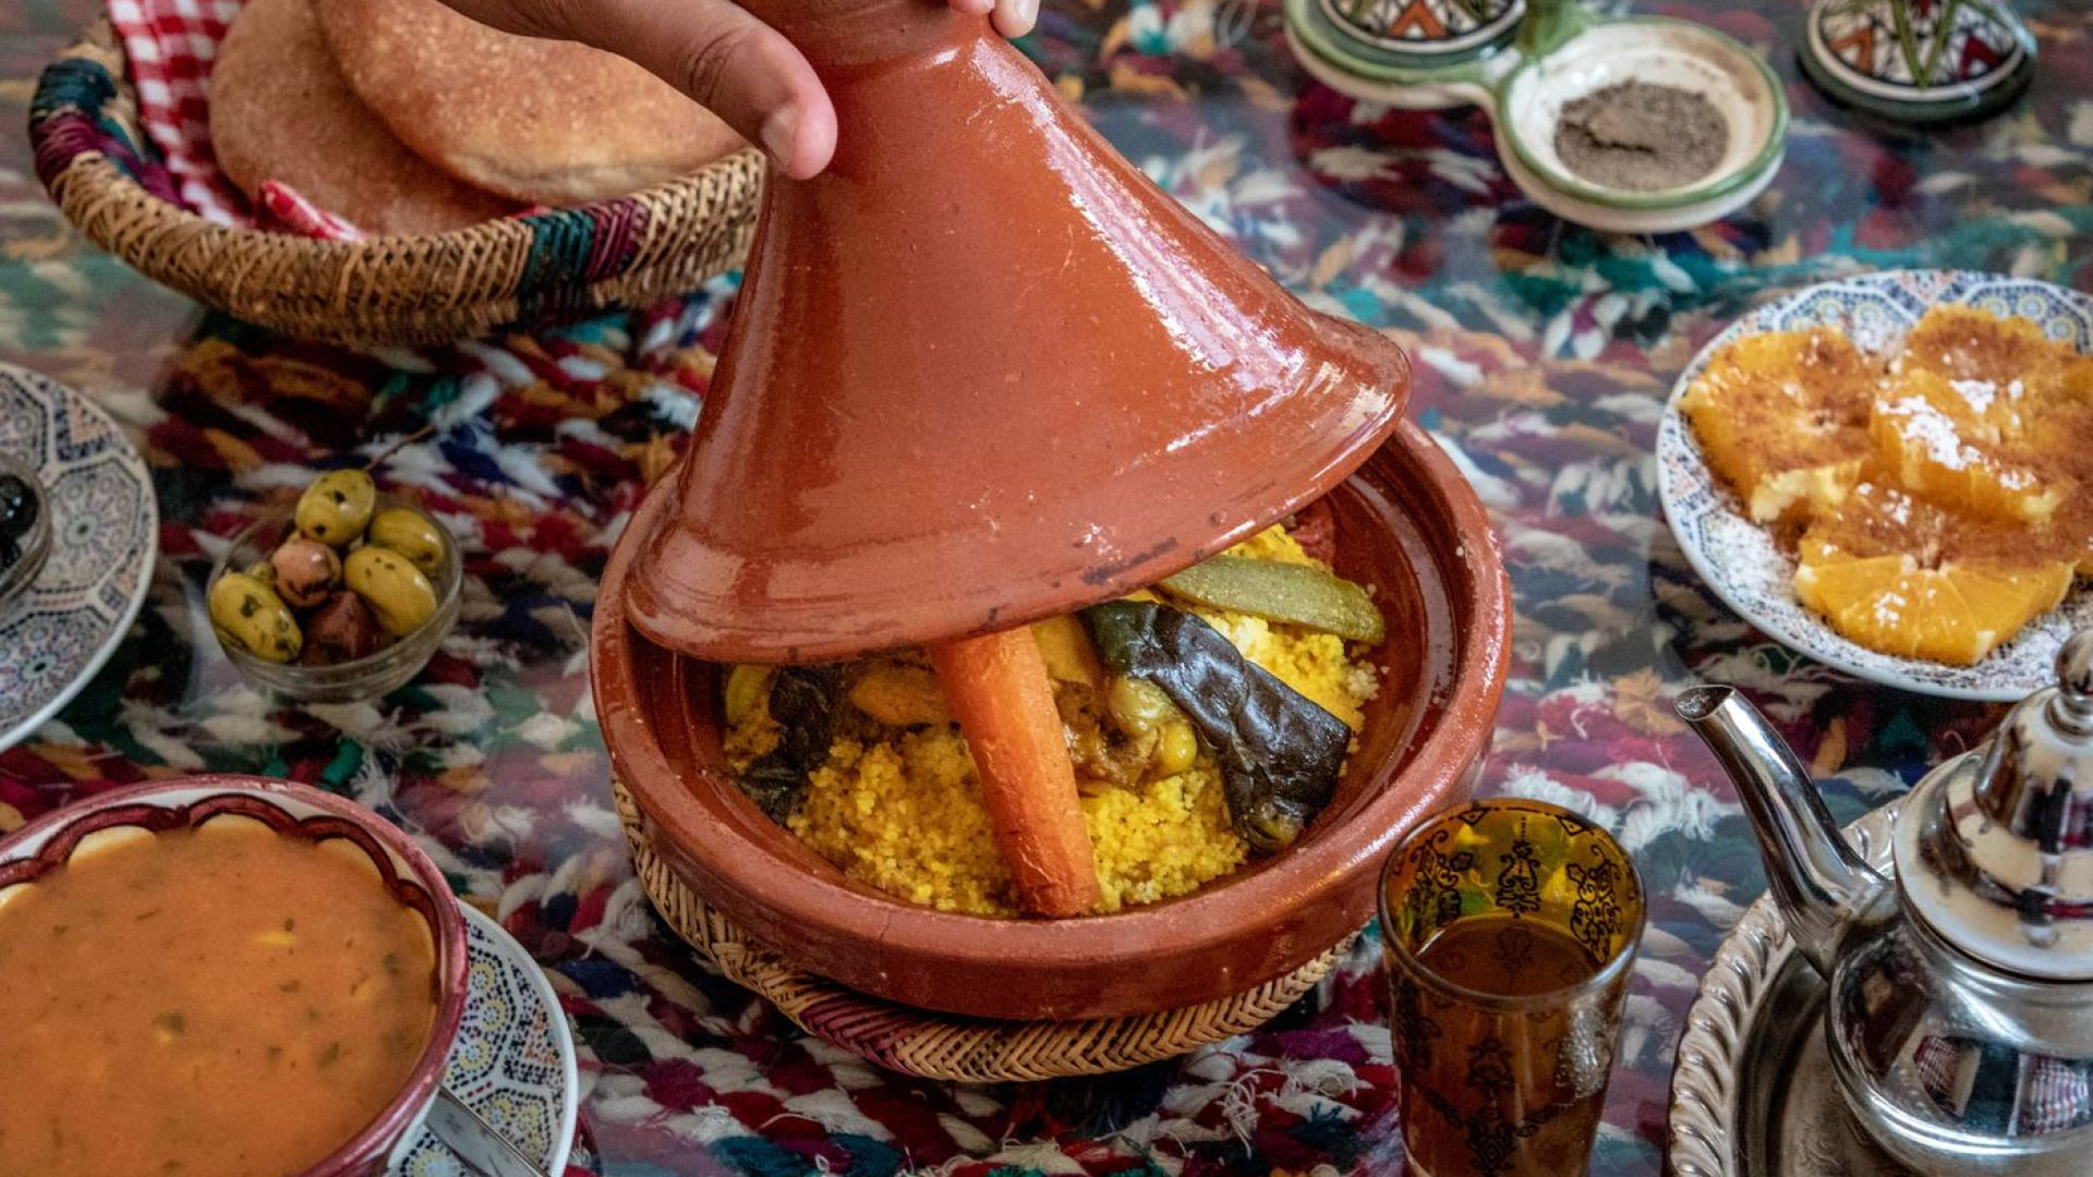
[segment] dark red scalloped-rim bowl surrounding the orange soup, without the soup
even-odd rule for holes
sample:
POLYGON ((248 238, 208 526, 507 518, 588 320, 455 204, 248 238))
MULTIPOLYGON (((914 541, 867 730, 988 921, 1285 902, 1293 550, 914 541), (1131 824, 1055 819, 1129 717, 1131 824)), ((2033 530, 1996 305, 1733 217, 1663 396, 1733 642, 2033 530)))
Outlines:
MULTIPOLYGON (((465 1020, 465 917, 442 871, 393 823, 333 794, 262 777, 188 777, 113 790, 50 813, 0 840, 0 894, 36 886, 96 834, 136 827, 153 834, 195 829, 218 817, 245 817, 310 842, 341 840, 364 852, 391 896, 427 919, 435 940, 435 1020, 406 1087, 368 1125, 341 1141, 303 1177, 377 1177, 429 1114, 444 1060, 465 1020)), ((13 1076, 36 1081, 36 1076, 13 1076)))

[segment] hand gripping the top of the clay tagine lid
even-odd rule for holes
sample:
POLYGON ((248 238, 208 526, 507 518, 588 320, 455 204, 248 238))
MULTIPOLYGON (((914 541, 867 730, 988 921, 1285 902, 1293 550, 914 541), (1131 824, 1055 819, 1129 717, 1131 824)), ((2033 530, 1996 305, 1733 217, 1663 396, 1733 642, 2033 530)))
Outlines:
MULTIPOLYGON (((628 57, 760 145, 797 180, 835 155, 835 105, 806 57, 735 0, 444 0, 496 29, 578 40, 628 57)), ((1007 38, 1040 0, 946 0, 1007 38)))

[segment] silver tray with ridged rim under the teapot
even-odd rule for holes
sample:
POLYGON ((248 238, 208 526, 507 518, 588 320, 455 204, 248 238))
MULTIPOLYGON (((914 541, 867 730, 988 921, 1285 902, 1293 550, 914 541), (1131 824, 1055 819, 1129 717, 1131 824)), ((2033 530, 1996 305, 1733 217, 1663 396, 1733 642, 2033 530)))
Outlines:
MULTIPOLYGON (((1890 871, 1903 798, 1846 827, 1890 871)), ((1909 1177, 1846 1112, 1823 1032, 1823 978, 1760 896, 1708 963, 1672 1066, 1676 1177, 1909 1177)))

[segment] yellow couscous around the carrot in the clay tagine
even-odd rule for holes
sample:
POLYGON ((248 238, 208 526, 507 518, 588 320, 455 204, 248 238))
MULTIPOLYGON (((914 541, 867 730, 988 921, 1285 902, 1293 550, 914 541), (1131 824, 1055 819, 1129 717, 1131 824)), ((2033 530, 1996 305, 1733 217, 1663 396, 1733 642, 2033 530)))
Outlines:
MULTIPOLYGON (((1229 555, 1327 572, 1281 526, 1229 555)), ((1136 599, 1160 601, 1168 593, 1136 599)), ((1183 599, 1172 607, 1195 614, 1247 662, 1350 733, 1360 729, 1363 708, 1377 687, 1363 658, 1367 643, 1183 599)), ((1034 635, 1055 679, 1076 764, 1097 869, 1093 911, 1189 894, 1241 867, 1254 846, 1245 840, 1243 815, 1231 813, 1224 752, 1149 685, 1101 672, 1074 618, 1034 626, 1034 635)), ((1019 915, 973 754, 940 697, 929 662, 921 653, 881 656, 829 674, 848 704, 833 706, 825 716, 829 731, 812 735, 827 735, 827 750, 802 750, 810 769, 804 787, 791 781, 789 790, 762 779, 764 764, 779 760, 781 741, 791 739, 772 714, 793 714, 774 699, 779 672, 733 668, 726 674, 726 754, 758 804, 843 873, 887 894, 942 911, 1019 915)), ((1340 746, 1344 729, 1337 729, 1340 746)), ((1333 762, 1331 787, 1337 771, 1333 762)))

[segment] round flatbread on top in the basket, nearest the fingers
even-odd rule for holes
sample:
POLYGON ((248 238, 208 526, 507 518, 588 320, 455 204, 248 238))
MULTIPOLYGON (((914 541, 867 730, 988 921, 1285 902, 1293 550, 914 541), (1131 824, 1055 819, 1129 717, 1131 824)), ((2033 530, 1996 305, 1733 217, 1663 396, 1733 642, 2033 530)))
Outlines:
POLYGON ((431 163, 567 205, 682 176, 741 147, 712 111, 609 52, 490 29, 440 0, 327 0, 356 94, 431 163))

